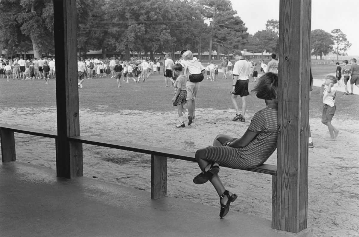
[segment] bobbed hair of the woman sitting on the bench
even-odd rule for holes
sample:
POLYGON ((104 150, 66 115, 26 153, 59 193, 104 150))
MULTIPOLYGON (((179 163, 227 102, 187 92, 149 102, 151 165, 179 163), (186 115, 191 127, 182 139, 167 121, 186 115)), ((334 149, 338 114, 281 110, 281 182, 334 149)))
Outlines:
POLYGON ((259 78, 258 84, 252 90, 256 96, 263 100, 275 100, 278 98, 278 75, 267 72, 259 78))

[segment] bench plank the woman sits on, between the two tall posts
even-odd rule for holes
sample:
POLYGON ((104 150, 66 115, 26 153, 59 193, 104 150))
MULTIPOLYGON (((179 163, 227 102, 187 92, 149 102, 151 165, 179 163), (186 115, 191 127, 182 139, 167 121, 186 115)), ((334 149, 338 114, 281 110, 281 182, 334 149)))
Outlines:
MULTIPOLYGON (((119 141, 106 141, 103 139, 96 139, 92 137, 86 136, 74 136, 69 137, 70 141, 77 141, 82 142, 89 145, 96 145, 96 146, 104 146, 110 147, 120 150, 128 150, 128 151, 135 151, 139 153, 145 153, 155 156, 163 156, 168 158, 186 160, 196 162, 195 160, 195 153, 189 151, 178 151, 178 150, 171 150, 166 148, 154 147, 154 146, 147 146, 147 145, 138 145, 126 142, 119 142, 119 141)), ((277 166, 276 165, 269 165, 269 164, 262 164, 255 168, 246 169, 247 171, 252 171, 256 173, 262 174, 270 174, 270 175, 277 175, 277 166)))

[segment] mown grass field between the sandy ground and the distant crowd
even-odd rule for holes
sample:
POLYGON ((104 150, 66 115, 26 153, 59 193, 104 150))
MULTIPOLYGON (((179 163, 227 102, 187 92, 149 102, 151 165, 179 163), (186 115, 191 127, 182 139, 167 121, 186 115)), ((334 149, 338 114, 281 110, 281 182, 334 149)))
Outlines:
MULTIPOLYGON (((335 71, 334 65, 313 65, 313 77, 324 78, 326 74, 335 71)), ((232 79, 222 79, 222 73, 217 81, 204 80, 201 83, 199 96, 196 99, 198 108, 216 108, 218 110, 233 108, 230 100, 232 79)), ((162 74, 151 75, 147 82, 130 83, 121 82, 117 88, 113 78, 88 79, 84 88, 79 89, 80 108, 92 111, 117 112, 120 110, 150 110, 171 111, 171 98, 173 88, 163 87, 162 74)), ((250 83, 250 90, 254 83, 250 83)), ((0 108, 22 107, 55 107, 56 106, 55 81, 51 80, 45 85, 43 80, 22 81, 0 79, 0 108)), ((310 101, 310 115, 321 116, 322 96, 320 88, 314 87, 310 101)), ((349 117, 358 118, 358 96, 343 96, 338 92, 336 97, 337 111, 348 114, 349 117)), ((239 106, 240 100, 239 101, 239 106)), ((256 112, 264 106, 264 102, 251 93, 247 97, 247 110, 256 112)), ((3 121, 4 122, 4 121, 3 121)))

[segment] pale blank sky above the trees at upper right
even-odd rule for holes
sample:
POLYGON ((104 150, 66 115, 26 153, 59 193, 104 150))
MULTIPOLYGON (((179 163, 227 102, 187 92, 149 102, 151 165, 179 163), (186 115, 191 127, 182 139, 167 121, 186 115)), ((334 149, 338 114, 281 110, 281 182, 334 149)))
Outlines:
MULTIPOLYGON (((255 34, 266 28, 267 20, 279 20, 279 0, 230 0, 233 9, 255 34)), ((341 29, 351 43, 348 55, 359 55, 359 0, 312 0, 312 30, 322 29, 331 33, 341 29)))

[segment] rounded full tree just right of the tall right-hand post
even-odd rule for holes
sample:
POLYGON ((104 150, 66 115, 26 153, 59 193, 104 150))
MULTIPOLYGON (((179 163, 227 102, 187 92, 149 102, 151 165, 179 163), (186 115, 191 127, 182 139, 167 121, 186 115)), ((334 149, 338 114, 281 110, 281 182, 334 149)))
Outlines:
POLYGON ((332 35, 321 29, 312 30, 311 32, 311 44, 312 55, 320 55, 320 59, 323 59, 324 55, 327 55, 332 51, 334 41, 332 35))

